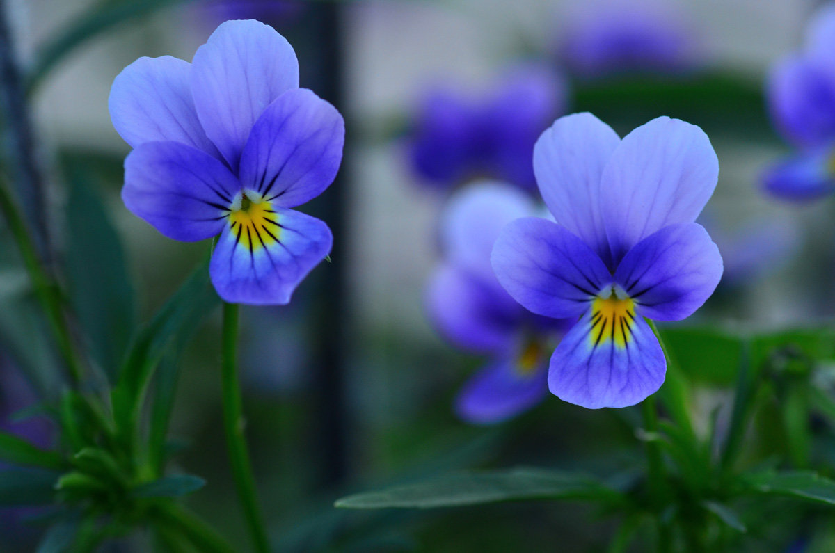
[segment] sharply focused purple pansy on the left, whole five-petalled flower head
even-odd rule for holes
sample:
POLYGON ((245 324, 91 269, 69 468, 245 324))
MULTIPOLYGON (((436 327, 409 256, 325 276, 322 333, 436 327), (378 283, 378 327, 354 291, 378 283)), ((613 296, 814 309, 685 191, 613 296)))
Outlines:
POLYGON ((124 204, 165 236, 220 235, 210 275, 226 302, 284 304, 331 251, 326 224, 291 208, 331 184, 345 127, 299 88, 296 53, 255 20, 228 21, 192 63, 139 58, 114 80, 110 117, 134 150, 124 204))

